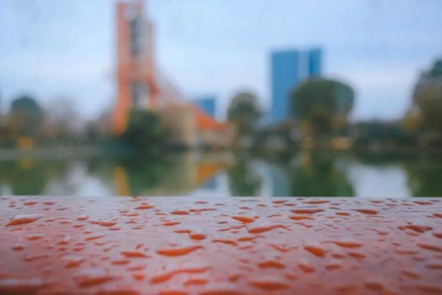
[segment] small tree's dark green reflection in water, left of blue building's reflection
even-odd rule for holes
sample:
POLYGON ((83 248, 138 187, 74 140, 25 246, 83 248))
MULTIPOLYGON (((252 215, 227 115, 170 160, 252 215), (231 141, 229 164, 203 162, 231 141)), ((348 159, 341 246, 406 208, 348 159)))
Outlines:
POLYGON ((232 196, 256 196, 261 189, 261 178, 253 171, 248 155, 238 155, 235 164, 227 169, 232 196))

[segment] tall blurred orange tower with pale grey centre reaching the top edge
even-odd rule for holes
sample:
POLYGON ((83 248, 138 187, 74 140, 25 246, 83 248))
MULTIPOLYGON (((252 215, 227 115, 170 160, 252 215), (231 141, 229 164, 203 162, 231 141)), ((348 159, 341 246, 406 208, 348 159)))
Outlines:
POLYGON ((158 86, 153 65, 153 28, 141 0, 117 3, 117 105, 113 131, 122 133, 131 108, 155 108, 158 86))

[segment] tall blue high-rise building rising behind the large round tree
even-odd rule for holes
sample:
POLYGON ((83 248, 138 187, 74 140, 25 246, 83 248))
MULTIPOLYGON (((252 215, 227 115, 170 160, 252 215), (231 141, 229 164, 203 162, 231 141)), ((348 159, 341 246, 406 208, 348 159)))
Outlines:
POLYGON ((301 82, 322 73, 322 50, 283 50, 271 54, 271 110, 269 121, 278 124, 289 116, 290 93, 301 82))

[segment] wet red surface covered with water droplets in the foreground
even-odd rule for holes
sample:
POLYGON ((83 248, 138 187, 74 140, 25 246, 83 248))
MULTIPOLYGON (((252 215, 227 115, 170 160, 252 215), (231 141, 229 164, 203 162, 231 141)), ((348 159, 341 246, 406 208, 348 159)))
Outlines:
POLYGON ((0 198, 0 294, 442 294, 442 199, 0 198))

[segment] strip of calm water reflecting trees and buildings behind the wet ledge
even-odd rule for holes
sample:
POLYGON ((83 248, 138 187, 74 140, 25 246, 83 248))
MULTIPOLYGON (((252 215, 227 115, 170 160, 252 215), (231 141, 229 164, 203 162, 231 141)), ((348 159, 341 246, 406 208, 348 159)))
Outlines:
POLYGON ((442 196, 441 155, 177 153, 166 158, 0 162, 3 195, 442 196), (376 185, 374 185, 376 184, 376 185))

